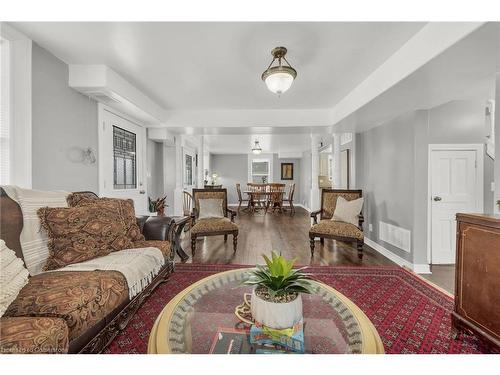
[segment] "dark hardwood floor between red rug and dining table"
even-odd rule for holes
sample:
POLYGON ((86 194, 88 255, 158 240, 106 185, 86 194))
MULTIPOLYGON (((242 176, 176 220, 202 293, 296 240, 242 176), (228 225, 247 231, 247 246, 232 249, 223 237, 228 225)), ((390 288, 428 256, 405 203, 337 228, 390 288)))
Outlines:
MULTIPOLYGON (((311 221, 309 213, 300 207, 294 216, 288 212, 250 214, 240 210, 235 222, 240 227, 236 254, 233 254, 232 238, 224 243, 223 236, 206 237, 197 241, 194 259, 188 262, 262 264, 261 255, 275 250, 287 258, 296 257, 298 265, 395 265, 366 245, 363 259, 359 260, 355 247, 333 240, 325 240, 324 246, 317 241, 311 258, 308 236, 311 221)), ((182 247, 191 255, 189 235, 184 237, 182 247)))

